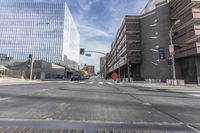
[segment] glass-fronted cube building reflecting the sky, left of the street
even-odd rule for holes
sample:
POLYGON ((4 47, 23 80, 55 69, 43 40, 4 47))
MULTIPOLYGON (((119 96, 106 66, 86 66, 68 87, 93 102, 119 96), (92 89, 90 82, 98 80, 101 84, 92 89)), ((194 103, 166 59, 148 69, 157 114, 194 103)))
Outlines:
POLYGON ((14 60, 79 62, 80 36, 65 2, 0 0, 0 53, 14 60))

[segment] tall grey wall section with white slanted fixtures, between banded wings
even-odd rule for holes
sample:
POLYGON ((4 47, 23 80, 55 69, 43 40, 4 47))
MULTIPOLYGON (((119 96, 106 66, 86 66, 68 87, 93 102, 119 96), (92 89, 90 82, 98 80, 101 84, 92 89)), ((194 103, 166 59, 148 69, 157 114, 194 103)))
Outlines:
MULTIPOLYGON (((172 78, 172 72, 168 65, 168 51, 169 51, 169 29, 170 29, 170 8, 168 4, 160 6, 144 14, 141 18, 141 40, 142 40, 142 64, 141 77, 166 79, 172 78), (159 59, 158 52, 151 49, 158 50, 165 48, 165 60, 159 59)), ((177 72, 179 73, 179 72, 177 72)))

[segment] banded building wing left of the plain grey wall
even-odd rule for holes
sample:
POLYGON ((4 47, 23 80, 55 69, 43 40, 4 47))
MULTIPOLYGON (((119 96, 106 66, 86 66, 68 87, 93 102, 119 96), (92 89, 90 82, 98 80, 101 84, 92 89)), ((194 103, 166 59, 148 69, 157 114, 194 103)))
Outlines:
POLYGON ((111 45, 107 62, 108 73, 117 71, 120 78, 130 76, 134 79, 140 79, 140 43, 140 18, 126 16, 111 45))

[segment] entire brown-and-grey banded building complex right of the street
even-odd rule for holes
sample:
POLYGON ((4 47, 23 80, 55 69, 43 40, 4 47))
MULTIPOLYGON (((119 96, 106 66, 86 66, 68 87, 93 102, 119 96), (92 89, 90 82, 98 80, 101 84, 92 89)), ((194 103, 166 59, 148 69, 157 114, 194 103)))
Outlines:
POLYGON ((149 0, 141 15, 126 16, 111 45, 107 74, 130 80, 172 79, 173 31, 177 79, 200 84, 200 0, 149 0))

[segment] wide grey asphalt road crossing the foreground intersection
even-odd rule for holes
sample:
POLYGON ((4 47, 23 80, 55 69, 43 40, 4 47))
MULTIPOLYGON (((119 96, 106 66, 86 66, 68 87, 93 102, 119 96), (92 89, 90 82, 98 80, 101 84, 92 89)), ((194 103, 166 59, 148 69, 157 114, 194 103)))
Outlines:
POLYGON ((0 119, 185 124, 200 128, 200 97, 102 79, 0 86, 0 119))

